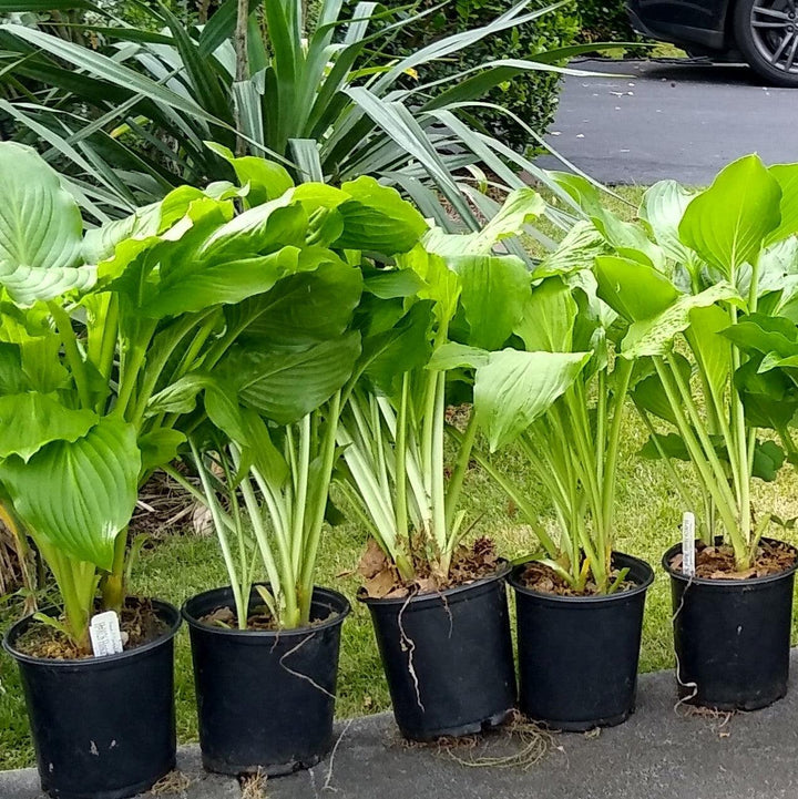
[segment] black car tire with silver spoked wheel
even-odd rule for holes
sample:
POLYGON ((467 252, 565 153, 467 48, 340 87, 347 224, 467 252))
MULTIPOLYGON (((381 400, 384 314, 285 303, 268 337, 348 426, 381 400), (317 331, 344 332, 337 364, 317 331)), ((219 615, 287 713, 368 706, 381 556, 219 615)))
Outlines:
POLYGON ((734 32, 743 57, 769 85, 798 88, 798 2, 737 0, 734 32))

